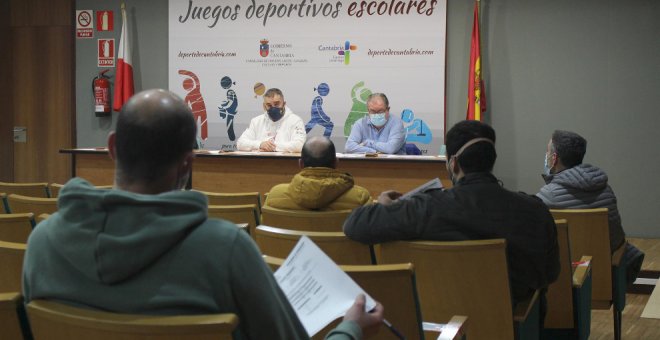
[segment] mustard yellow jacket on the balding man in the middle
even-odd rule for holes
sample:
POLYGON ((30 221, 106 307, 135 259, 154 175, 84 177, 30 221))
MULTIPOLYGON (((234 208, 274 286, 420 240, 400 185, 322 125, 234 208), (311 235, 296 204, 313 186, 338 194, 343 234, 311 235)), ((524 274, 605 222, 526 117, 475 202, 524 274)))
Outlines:
POLYGON ((304 168, 291 183, 278 184, 264 205, 289 210, 343 210, 371 202, 367 189, 353 176, 332 168, 304 168))

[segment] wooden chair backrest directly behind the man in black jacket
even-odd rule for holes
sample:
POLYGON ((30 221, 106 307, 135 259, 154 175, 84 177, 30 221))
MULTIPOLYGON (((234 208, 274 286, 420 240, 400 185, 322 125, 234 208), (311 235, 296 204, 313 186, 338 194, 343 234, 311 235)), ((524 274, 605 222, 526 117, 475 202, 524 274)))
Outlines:
POLYGON ((382 243, 381 262, 413 263, 424 321, 467 315, 470 339, 514 338, 504 239, 382 243))

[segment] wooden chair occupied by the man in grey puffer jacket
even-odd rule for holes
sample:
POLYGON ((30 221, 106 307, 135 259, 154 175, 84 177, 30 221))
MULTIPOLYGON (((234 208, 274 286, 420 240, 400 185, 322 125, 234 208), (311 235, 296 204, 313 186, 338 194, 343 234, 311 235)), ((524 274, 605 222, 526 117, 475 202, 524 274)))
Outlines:
POLYGON ((592 264, 592 309, 610 309, 614 319, 614 338, 621 339, 621 315, 626 305, 626 268, 621 265, 624 244, 614 254, 610 251, 607 208, 550 209, 555 219, 568 221, 571 260, 589 254, 592 264))

